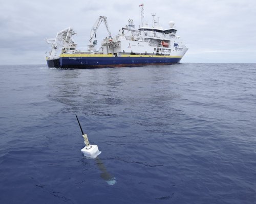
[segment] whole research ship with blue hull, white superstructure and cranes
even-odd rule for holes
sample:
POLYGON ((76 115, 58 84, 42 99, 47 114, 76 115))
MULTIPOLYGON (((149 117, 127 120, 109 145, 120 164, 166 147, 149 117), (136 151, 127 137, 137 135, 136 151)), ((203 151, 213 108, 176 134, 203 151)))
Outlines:
POLYGON ((98 68, 125 67, 144 65, 169 65, 179 63, 187 51, 185 41, 178 36, 174 21, 169 21, 169 28, 163 29, 159 18, 152 14, 152 25, 144 20, 144 5, 141 4, 141 24, 138 29, 133 19, 111 35, 107 18, 99 16, 90 35, 87 50, 78 50, 72 36, 76 32, 71 28, 57 33, 55 39, 46 39, 51 50, 46 53, 48 67, 55 68, 98 68), (99 48, 96 32, 101 22, 108 31, 99 48))

